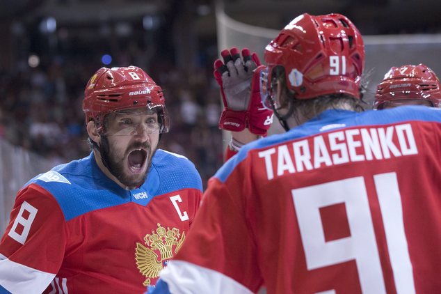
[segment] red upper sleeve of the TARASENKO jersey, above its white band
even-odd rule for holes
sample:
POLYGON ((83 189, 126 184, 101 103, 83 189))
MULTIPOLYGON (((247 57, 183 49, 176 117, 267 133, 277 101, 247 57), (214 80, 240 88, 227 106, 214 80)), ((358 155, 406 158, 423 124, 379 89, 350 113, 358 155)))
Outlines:
POLYGON ((175 259, 216 270, 258 291, 262 284, 241 199, 217 178, 209 181, 189 236, 175 259))

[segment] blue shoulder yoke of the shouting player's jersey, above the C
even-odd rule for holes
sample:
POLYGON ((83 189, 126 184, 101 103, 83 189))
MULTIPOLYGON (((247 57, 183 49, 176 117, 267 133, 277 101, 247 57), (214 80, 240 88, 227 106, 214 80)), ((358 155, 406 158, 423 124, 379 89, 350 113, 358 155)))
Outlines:
POLYGON ((155 197, 179 189, 199 189, 202 180, 194 164, 157 150, 147 180, 131 191, 123 189, 99 169, 93 153, 81 160, 54 167, 29 184, 40 185, 58 201, 66 221, 92 210, 135 202, 143 206, 155 197))

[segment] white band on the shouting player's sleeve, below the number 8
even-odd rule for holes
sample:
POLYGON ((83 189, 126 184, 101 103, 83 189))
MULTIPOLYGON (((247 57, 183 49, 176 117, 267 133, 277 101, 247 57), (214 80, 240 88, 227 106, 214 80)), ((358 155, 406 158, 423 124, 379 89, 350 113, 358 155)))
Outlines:
POLYGON ((55 274, 15 263, 0 254, 0 285, 10 293, 42 293, 54 277, 55 274))

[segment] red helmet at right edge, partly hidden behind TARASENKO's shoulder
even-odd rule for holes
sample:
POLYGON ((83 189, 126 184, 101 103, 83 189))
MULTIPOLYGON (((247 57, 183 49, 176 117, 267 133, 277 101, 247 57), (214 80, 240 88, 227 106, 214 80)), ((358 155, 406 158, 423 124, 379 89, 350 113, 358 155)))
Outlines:
POLYGON ((435 72, 422 63, 390 68, 377 86, 374 109, 417 103, 441 107, 440 79, 435 72))

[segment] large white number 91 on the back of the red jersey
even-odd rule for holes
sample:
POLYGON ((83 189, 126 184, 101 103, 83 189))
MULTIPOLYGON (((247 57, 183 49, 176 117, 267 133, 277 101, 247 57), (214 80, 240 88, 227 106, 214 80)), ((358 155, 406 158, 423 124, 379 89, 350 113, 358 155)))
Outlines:
MULTIPOLYGON (((397 293, 415 293, 396 173, 374 176, 397 293)), ((363 177, 291 191, 308 270, 354 260, 362 293, 386 293, 363 177), (351 236, 325 241, 319 209, 344 203, 351 236)))

